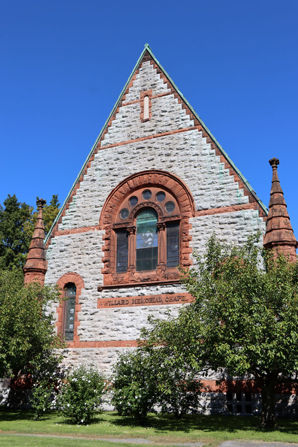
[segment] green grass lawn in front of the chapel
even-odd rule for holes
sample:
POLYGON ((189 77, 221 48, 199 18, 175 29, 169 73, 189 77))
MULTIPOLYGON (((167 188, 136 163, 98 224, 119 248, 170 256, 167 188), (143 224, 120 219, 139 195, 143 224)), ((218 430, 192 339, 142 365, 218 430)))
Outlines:
MULTIPOLYGON (((84 438, 72 440, 71 446, 85 447, 106 445, 92 441, 96 438, 142 438, 152 443, 172 445, 175 443, 202 442, 217 446, 228 440, 277 441, 298 443, 298 420, 278 419, 278 428, 265 430, 257 417, 241 416, 187 416, 175 420, 172 416, 149 415, 145 426, 139 426, 130 417, 116 412, 98 413, 88 426, 71 425, 56 411, 44 414, 42 420, 34 421, 31 411, 0 410, 0 445, 2 446, 70 446, 67 439, 6 437, 5 434, 43 434, 84 438), (32 441, 33 439, 33 441, 32 441), (6 443, 6 444, 4 444, 6 443), (15 443, 15 444, 13 444, 15 443), (95 444, 94 444, 95 445, 95 444)), ((120 444, 119 444, 120 446, 120 444)), ((124 444, 121 444, 124 447, 124 444)), ((145 445, 146 446, 146 445, 145 445)))

